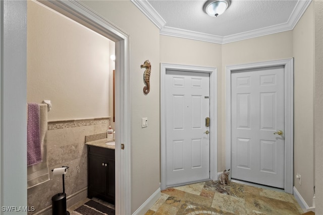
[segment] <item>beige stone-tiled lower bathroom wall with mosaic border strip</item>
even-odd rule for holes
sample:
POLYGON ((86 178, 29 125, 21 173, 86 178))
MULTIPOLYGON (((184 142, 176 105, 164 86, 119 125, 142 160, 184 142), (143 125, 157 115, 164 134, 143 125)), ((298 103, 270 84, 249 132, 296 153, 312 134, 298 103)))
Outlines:
MULTIPOLYGON (((69 167, 65 175, 65 193, 68 199, 69 196, 77 196, 76 194, 82 190, 82 193, 85 193, 84 190, 87 187, 85 136, 106 132, 109 124, 109 118, 48 122, 49 171, 62 166, 69 167)), ((28 214, 37 214, 42 210, 41 214, 51 214, 51 212, 48 213, 48 209, 51 208, 51 197, 62 192, 63 186, 62 176, 53 176, 51 171, 49 174, 50 181, 28 189, 28 206, 35 207, 35 211, 28 214)), ((68 204, 71 203, 73 203, 72 200, 68 201, 68 204)))

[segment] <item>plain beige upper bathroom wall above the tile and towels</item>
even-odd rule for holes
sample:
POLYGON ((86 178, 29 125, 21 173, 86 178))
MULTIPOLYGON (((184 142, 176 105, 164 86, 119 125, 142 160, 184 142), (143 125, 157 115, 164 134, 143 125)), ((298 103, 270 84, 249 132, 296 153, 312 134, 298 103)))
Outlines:
POLYGON ((37 2, 27 8, 27 101, 51 100, 48 121, 109 116, 110 40, 37 2))

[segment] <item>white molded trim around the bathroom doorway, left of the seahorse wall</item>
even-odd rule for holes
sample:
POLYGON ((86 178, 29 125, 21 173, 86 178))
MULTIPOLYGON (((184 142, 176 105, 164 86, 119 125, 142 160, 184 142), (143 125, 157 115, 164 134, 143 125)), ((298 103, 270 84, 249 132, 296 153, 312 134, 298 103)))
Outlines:
POLYGON ((129 92, 129 35, 79 1, 41 1, 41 4, 116 43, 116 214, 131 213, 131 111, 129 92), (125 150, 121 150, 125 144, 125 150))

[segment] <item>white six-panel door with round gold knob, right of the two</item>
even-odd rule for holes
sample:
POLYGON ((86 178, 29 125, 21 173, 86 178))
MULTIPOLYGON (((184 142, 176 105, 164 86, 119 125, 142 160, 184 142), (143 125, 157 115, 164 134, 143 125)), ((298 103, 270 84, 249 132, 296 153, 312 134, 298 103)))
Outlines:
POLYGON ((231 178, 284 188, 284 66, 232 73, 231 104, 231 178))

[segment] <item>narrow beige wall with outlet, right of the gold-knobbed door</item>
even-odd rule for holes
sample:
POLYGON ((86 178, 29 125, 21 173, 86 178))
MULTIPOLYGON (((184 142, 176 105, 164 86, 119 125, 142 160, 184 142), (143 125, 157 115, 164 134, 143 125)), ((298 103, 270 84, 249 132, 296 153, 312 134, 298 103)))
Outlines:
POLYGON ((308 206, 314 195, 314 4, 293 30, 294 53, 294 186, 308 206), (301 175, 301 185, 296 179, 301 175))

